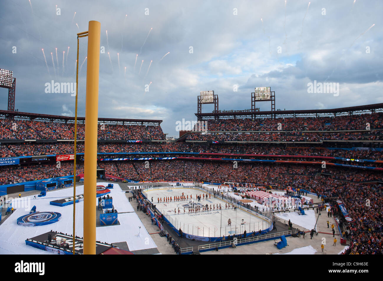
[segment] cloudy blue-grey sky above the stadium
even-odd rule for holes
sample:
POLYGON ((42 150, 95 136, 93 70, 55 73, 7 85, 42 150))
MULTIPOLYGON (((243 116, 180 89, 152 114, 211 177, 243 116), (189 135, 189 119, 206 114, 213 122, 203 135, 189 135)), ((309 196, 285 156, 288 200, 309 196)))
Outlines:
POLYGON ((74 116, 74 97, 45 83, 76 81, 76 34, 100 21, 99 117, 160 119, 178 136, 204 90, 225 110, 251 108, 260 86, 282 110, 383 102, 382 11, 379 0, 1 0, 0 68, 16 77, 19 111, 74 116), (308 93, 314 80, 339 83, 339 96, 308 93))

